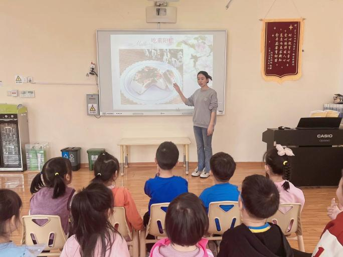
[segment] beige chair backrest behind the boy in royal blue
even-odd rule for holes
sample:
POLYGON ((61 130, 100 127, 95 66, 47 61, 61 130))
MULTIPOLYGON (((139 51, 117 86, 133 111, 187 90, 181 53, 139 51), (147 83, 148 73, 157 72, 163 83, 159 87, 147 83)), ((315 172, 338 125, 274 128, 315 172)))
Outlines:
POLYGON ((169 202, 154 203, 150 206, 150 219, 146 226, 146 235, 166 236, 164 229, 165 213, 169 202))

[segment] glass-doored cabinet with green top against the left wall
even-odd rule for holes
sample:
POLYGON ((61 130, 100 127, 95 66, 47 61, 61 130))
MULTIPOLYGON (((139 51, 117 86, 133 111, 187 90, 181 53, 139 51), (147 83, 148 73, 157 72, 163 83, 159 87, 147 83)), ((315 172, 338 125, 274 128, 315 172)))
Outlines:
POLYGON ((27 108, 0 104, 0 171, 25 171, 25 144, 29 142, 27 108))

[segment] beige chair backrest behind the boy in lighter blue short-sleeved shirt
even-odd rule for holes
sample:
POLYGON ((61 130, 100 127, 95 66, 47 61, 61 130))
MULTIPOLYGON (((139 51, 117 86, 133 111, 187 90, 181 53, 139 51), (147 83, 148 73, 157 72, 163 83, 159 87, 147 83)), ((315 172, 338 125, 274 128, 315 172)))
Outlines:
POLYGON ((229 228, 241 224, 241 213, 237 201, 210 202, 209 233, 224 234, 229 228))

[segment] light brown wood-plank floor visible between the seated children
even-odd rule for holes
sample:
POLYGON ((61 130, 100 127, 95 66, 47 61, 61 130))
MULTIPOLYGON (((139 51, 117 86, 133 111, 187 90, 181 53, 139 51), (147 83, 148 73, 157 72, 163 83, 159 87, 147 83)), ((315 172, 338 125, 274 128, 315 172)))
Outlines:
MULTIPOLYGON (((193 170, 194 167, 190 167, 193 170)), ((133 199, 136 202, 138 211, 143 216, 147 211, 149 198, 144 194, 143 188, 145 181, 153 177, 156 168, 153 166, 130 167, 125 169, 125 175, 119 176, 116 181, 116 186, 125 186, 132 193, 133 199)), ((175 169, 175 175, 183 176, 188 180, 189 191, 199 195, 206 187, 213 185, 212 177, 201 179, 186 175, 182 166, 175 169)), ((27 215, 30 206, 30 184, 33 177, 37 174, 34 171, 26 171, 23 173, 0 173, 0 188, 10 188, 16 191, 23 200, 23 208, 21 215, 27 215)), ((241 186, 242 180, 247 175, 264 174, 260 163, 239 163, 231 183, 241 186)), ((73 180, 71 186, 76 190, 86 186, 93 178, 93 172, 88 168, 81 168, 73 172, 73 180)), ((337 181, 338 184, 338 181, 337 181)), ((302 226, 305 249, 307 252, 312 252, 318 242, 319 236, 325 224, 329 221, 326 216, 326 207, 330 204, 332 197, 335 197, 336 188, 303 188, 305 194, 305 206, 302 211, 302 226)), ((21 238, 21 228, 15 231, 12 240, 19 244, 21 238)), ((297 243, 291 242, 291 245, 297 248, 297 243)))

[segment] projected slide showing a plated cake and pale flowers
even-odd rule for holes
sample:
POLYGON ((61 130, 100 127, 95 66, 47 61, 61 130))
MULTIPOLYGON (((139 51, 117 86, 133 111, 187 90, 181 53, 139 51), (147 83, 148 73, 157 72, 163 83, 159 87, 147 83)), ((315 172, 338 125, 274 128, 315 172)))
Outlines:
POLYGON ((197 90, 197 73, 213 73, 212 49, 212 35, 111 35, 113 108, 187 109, 173 83, 197 90))

